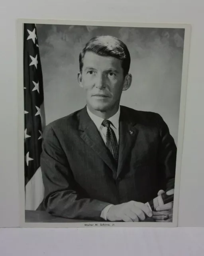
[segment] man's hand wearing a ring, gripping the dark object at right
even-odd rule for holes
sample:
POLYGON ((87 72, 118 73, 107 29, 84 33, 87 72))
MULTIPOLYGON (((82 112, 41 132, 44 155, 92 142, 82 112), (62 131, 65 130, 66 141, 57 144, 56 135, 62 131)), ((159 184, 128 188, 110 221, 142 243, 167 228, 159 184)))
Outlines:
MULTIPOLYGON (((165 193, 164 190, 159 190, 158 196, 165 193)), ((167 195, 174 194, 174 189, 167 192, 167 195)), ((152 218, 156 222, 172 222, 173 220, 173 202, 158 206, 155 211, 152 212, 152 218), (165 215, 169 215, 169 218, 165 220, 165 215)))

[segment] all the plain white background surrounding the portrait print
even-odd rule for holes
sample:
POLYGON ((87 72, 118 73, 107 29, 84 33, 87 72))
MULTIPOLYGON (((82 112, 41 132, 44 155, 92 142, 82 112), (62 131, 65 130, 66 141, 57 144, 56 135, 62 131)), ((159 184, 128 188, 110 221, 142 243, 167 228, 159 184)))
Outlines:
MULTIPOLYGON (((19 225, 16 18, 190 23, 179 226, 204 226, 202 0, 7 0, 0 3, 0 226, 19 225)), ((1 255, 202 255, 202 228, 2 229, 1 255), (2 250, 3 249, 3 250, 2 250), (3 251, 3 253, 2 253, 3 251), (140 252, 140 253, 139 253, 140 252)))

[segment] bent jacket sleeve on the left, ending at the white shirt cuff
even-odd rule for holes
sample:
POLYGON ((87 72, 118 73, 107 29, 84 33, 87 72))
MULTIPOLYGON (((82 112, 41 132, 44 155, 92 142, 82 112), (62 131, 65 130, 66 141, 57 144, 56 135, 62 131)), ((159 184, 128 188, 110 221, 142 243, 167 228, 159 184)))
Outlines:
POLYGON ((50 125, 43 132, 41 170, 47 212, 64 218, 103 220, 101 212, 110 203, 88 198, 78 190, 65 152, 50 125))

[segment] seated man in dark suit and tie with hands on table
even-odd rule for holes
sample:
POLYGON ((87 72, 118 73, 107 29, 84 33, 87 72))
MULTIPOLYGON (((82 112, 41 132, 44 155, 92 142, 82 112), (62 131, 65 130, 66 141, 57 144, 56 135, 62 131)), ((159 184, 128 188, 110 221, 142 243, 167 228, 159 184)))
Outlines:
POLYGON ((172 221, 173 203, 153 212, 145 203, 174 188, 177 148, 159 114, 120 106, 132 80, 127 46, 112 36, 92 38, 79 62, 86 106, 43 132, 46 210, 98 221, 172 221))

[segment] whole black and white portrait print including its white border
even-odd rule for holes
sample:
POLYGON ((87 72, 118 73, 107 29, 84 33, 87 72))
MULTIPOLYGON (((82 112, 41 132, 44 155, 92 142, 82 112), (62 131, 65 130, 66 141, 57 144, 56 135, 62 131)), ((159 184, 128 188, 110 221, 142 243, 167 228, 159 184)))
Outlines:
POLYGON ((19 20, 22 226, 177 226, 189 30, 19 20))

